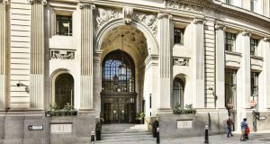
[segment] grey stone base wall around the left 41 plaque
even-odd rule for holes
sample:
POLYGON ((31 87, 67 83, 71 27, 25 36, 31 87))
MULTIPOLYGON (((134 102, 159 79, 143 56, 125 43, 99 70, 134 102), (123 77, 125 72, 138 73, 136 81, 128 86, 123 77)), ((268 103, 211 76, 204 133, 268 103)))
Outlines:
POLYGON ((88 143, 95 128, 94 114, 76 116, 0 116, 0 144, 88 143), (50 124, 72 124, 70 133, 51 133, 50 124), (43 130, 29 130, 43 125, 43 130))

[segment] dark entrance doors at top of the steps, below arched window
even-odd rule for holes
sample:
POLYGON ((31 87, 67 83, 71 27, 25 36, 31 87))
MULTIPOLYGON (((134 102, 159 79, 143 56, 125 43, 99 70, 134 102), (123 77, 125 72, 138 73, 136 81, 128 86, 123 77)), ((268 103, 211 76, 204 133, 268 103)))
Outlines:
POLYGON ((133 123, 135 98, 103 98, 104 123, 133 123))

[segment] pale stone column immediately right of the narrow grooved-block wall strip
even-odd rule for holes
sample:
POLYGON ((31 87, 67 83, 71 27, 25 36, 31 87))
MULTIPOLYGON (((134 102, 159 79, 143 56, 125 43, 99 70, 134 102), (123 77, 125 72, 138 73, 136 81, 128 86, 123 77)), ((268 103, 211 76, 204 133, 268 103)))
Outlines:
POLYGON ((225 108, 225 26, 216 24, 216 89, 217 108, 225 108))

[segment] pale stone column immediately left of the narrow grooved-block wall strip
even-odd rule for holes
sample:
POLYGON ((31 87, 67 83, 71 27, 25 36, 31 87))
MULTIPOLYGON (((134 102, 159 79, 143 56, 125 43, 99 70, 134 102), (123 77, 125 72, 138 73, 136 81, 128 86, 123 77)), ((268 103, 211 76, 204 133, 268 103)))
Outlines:
POLYGON ((194 87, 195 87, 195 102, 196 108, 204 108, 206 106, 206 94, 204 86, 204 34, 203 34, 204 20, 195 18, 194 24, 194 59, 195 65, 193 67, 195 73, 194 87))

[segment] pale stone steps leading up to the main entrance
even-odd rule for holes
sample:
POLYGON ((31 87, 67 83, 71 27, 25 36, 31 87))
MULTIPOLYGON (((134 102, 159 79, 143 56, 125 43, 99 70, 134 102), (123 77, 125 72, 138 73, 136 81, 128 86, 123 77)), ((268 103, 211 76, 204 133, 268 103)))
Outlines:
POLYGON ((104 124, 102 140, 96 143, 127 143, 131 141, 156 141, 144 124, 104 124))

